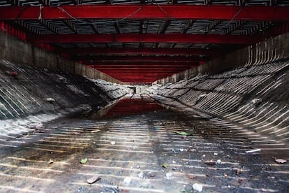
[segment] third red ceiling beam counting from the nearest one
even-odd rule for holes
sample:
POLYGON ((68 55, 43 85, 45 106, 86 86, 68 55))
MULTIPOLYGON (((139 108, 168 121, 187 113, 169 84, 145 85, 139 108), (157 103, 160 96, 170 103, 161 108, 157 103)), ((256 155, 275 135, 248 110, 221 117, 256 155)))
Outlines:
POLYGON ((68 55, 221 55, 221 50, 186 48, 61 48, 68 55))

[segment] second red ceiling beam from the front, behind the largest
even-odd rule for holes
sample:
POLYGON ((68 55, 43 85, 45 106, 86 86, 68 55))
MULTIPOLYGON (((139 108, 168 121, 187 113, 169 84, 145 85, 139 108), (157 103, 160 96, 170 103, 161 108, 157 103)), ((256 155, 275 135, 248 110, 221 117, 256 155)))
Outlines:
POLYGON ((228 43, 252 44, 259 36, 218 34, 45 34, 27 35, 31 43, 228 43))

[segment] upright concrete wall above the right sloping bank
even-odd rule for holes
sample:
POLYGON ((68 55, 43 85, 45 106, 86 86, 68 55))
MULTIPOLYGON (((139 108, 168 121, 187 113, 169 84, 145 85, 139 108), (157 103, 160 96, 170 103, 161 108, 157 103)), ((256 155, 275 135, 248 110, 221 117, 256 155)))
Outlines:
POLYGON ((289 33, 269 38, 266 41, 231 52, 228 55, 214 59, 213 61, 197 66, 194 69, 177 73, 173 76, 157 80, 154 83, 164 85, 165 83, 175 83, 198 74, 216 74, 236 67, 266 64, 280 59, 287 59, 289 58, 288 41, 289 33))

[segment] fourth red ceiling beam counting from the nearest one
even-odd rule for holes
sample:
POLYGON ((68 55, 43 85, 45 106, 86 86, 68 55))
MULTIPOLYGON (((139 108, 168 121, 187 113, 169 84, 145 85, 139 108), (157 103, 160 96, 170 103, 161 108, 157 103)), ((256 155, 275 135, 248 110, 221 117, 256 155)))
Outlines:
POLYGON ((90 62, 206 62, 212 57, 198 56, 77 56, 74 60, 90 62))

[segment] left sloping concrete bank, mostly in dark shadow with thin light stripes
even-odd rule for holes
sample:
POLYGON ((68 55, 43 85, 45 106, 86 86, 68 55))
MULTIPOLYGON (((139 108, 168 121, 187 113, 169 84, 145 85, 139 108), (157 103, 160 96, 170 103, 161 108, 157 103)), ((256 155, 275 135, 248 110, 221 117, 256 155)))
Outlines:
MULTIPOLYGON (((104 80, 92 82, 83 76, 20 66, 6 60, 0 61, 0 81, 0 120, 13 119, 14 124, 28 124, 20 118, 29 115, 35 116, 31 122, 39 122, 61 114, 97 110, 129 92, 126 87, 104 80)), ((14 125, 7 121, 0 122, 5 130, 1 130, 2 134, 9 130, 4 125, 14 125)))

